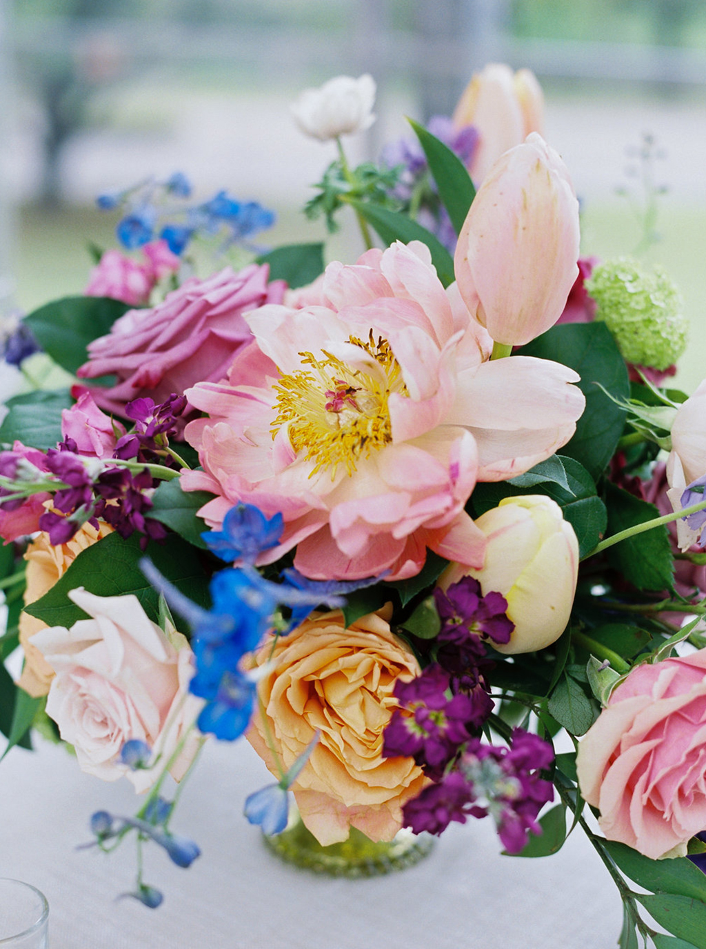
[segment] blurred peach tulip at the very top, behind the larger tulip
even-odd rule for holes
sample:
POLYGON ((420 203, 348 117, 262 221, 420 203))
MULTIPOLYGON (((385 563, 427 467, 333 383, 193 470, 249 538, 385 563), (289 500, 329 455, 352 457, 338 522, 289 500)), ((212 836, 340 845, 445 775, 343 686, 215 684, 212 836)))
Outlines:
POLYGON ((468 168, 478 185, 504 152, 530 132, 542 132, 542 87, 529 69, 512 73, 509 65, 491 63, 474 73, 466 86, 455 107, 454 124, 456 128, 474 125, 478 132, 478 146, 468 168))

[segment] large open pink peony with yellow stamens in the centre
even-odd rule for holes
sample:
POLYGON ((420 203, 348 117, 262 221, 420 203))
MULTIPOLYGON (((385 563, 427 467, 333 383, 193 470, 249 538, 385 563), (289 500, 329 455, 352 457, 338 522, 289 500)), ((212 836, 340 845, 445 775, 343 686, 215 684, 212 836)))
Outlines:
POLYGON ((414 576, 426 548, 481 567, 485 537, 464 505, 477 479, 527 471, 566 444, 584 408, 575 372, 492 341, 419 243, 325 271, 324 306, 250 313, 254 342, 228 380, 187 392, 210 416, 187 439, 203 472, 186 491, 282 512, 271 563, 297 548, 306 576, 414 576))

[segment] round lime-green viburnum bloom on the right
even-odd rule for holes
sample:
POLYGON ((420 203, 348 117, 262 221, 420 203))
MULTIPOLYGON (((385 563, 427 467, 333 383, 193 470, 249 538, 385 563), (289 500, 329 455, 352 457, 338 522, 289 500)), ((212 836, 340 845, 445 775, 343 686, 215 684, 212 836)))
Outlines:
POLYGON ((660 267, 630 257, 606 261, 585 283, 596 301, 596 320, 613 334, 628 363, 666 369, 686 348, 681 294, 660 267))

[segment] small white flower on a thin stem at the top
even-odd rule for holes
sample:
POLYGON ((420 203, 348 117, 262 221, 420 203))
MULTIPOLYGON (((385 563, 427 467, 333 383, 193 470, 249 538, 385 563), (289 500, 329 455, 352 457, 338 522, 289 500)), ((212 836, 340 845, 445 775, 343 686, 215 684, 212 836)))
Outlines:
POLYGON ((373 102, 372 76, 336 76, 318 89, 305 89, 292 102, 291 113, 305 135, 327 141, 369 128, 375 121, 373 102))

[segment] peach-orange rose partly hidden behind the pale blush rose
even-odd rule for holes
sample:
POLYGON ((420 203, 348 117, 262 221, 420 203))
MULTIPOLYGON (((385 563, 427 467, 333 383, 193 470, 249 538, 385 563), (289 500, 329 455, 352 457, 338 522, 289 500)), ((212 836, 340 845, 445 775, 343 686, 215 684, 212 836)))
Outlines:
MULTIPOLYGON (((40 533, 25 553, 27 561, 25 605, 43 597, 64 576, 82 550, 89 548, 112 532, 113 528, 105 521, 98 522, 98 529, 86 522, 71 540, 56 547, 49 543, 49 535, 46 531, 40 533)), ((46 623, 23 611, 20 613, 19 626, 20 645, 25 651, 25 667, 17 684, 33 698, 41 698, 49 691, 54 670, 39 649, 32 644, 31 638, 40 629, 46 629, 46 623)))

